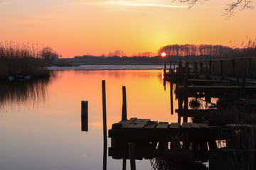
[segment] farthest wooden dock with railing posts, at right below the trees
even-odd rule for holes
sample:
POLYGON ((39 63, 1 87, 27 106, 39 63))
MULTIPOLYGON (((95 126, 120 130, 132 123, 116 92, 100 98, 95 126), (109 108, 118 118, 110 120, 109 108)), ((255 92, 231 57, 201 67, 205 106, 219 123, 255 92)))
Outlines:
POLYGON ((196 82, 196 85, 225 85, 228 83, 237 86, 240 84, 244 88, 245 85, 256 84, 255 67, 252 67, 252 63, 255 62, 252 60, 255 61, 256 57, 183 62, 180 59, 178 64, 170 62, 169 72, 166 72, 168 69, 166 69, 166 64, 164 65, 164 79, 181 84, 186 77, 186 79, 193 79, 192 81, 196 82), (174 67, 172 67, 173 64, 174 67), (204 82, 196 81, 196 79, 203 79, 204 82))

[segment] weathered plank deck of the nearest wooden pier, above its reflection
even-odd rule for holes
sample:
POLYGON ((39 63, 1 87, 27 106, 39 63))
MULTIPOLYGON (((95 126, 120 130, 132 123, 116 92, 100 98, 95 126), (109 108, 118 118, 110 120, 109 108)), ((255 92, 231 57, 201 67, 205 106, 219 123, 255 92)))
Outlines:
MULTIPOLYGON (((159 142, 159 139, 172 137, 178 132, 180 135, 189 131, 189 136, 198 138, 218 137, 218 126, 208 126, 203 123, 168 123, 151 121, 150 119, 131 118, 114 123, 109 130, 109 137, 148 140, 159 142)), ((195 138, 196 139, 196 138, 195 138)), ((134 142, 130 140, 129 142, 134 142)))

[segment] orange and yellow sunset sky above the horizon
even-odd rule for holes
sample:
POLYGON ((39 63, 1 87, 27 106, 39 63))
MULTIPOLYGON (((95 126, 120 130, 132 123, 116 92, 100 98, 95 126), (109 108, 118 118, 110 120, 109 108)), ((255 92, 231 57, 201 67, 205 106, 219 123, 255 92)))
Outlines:
POLYGON ((50 45, 63 57, 172 44, 240 45, 255 39, 256 9, 223 16, 229 1, 0 0, 0 41, 50 45))

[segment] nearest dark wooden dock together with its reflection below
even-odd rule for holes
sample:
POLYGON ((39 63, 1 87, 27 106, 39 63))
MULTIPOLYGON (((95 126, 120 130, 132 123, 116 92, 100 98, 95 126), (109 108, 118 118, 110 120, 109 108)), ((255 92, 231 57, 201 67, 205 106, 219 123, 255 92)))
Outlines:
MULTIPOLYGON (((225 132, 231 128, 225 129, 225 132)), ((136 159, 152 159, 156 157, 156 149, 174 152, 180 149, 195 152, 208 152, 217 148, 215 140, 223 140, 222 129, 218 126, 208 126, 203 123, 168 123, 149 119, 131 118, 114 123, 109 130, 111 147, 109 156, 114 159, 129 159, 128 143, 134 142, 136 159), (198 149, 201 148, 201 149, 198 149)))

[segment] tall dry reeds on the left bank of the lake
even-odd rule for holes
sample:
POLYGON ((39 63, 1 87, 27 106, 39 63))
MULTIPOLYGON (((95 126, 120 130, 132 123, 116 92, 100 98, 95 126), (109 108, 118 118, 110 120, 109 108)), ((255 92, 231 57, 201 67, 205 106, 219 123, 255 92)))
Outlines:
POLYGON ((38 45, 0 42, 0 79, 15 75, 49 76, 38 45))

